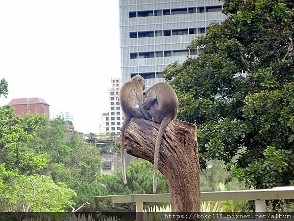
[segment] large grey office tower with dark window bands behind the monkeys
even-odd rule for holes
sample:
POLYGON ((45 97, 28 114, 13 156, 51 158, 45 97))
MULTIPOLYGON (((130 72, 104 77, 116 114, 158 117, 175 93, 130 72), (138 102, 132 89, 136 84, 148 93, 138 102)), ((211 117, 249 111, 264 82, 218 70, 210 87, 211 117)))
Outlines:
POLYGON ((224 19, 219 0, 120 0, 121 69, 123 83, 136 74, 146 87, 163 82, 163 70, 201 49, 187 45, 206 27, 224 19))

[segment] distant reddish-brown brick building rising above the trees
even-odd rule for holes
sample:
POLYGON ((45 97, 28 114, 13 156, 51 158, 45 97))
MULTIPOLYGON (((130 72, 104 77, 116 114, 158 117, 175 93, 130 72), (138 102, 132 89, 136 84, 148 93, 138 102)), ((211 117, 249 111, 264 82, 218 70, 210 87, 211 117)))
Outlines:
POLYGON ((16 98, 9 102, 14 108, 14 114, 25 115, 26 113, 46 113, 49 117, 49 104, 43 98, 16 98))

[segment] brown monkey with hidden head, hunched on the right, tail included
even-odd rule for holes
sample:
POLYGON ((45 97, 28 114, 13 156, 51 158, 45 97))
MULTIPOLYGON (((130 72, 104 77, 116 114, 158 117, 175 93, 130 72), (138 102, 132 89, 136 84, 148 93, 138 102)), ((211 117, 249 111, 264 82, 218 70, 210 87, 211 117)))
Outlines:
POLYGON ((154 149, 153 193, 156 193, 161 139, 166 127, 176 117, 179 102, 172 86, 168 83, 157 83, 153 85, 143 96, 145 97, 144 108, 150 111, 154 122, 160 123, 154 149))

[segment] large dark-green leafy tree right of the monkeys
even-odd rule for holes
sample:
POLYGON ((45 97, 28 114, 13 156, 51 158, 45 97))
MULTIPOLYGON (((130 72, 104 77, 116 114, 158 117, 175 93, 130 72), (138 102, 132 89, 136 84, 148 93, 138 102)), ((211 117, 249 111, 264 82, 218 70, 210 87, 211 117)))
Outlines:
POLYGON ((293 6, 292 0, 224 0, 228 18, 189 46, 203 49, 198 57, 164 71, 179 97, 178 117, 198 125, 202 168, 223 160, 248 187, 294 179, 293 6))

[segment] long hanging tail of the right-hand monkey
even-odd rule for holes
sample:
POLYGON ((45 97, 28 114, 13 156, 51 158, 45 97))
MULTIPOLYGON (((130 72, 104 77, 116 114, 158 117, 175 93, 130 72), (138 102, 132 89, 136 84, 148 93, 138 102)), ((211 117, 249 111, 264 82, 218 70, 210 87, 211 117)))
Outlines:
POLYGON ((164 117, 162 119, 159 131, 158 131, 158 135, 156 138, 155 149, 154 149, 154 167, 153 167, 153 193, 156 193, 156 188, 157 188, 157 168, 158 168, 159 148, 160 148, 161 140, 163 137, 163 133, 171 121, 172 121, 171 117, 164 117))

